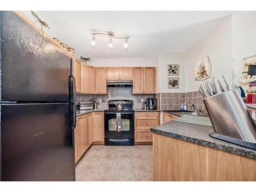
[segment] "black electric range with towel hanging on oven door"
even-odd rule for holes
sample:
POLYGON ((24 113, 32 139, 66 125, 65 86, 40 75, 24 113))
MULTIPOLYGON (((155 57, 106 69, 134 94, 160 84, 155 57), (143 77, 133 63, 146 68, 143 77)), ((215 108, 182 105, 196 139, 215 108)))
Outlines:
POLYGON ((134 145, 134 110, 132 100, 109 100, 104 111, 105 145, 134 145), (121 104, 123 109, 117 110, 121 104), (121 116, 122 131, 116 131, 116 118, 121 116))

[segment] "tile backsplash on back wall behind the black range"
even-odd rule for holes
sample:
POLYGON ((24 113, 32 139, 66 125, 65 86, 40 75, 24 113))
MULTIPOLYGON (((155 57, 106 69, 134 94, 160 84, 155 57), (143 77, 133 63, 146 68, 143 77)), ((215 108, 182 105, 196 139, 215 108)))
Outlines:
POLYGON ((101 99, 101 103, 98 103, 98 109, 107 109, 108 108, 108 101, 113 99, 128 99, 133 100, 134 108, 141 109, 142 103, 141 99, 146 101, 147 97, 156 97, 156 94, 133 94, 132 87, 125 87, 125 88, 108 88, 108 95, 76 95, 76 102, 90 102, 92 98, 99 98, 101 99))

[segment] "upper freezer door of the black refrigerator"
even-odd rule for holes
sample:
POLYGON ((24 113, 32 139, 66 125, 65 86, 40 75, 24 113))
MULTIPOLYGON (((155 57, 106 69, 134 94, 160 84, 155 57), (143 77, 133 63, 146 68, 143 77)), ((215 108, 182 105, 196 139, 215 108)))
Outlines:
POLYGON ((74 100, 71 58, 12 11, 0 14, 1 100, 74 100))

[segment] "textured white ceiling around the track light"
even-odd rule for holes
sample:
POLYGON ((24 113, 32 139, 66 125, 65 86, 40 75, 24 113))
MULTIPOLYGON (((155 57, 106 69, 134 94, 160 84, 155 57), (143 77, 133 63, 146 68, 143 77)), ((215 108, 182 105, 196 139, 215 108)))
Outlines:
MULTIPOLYGON (((230 11, 35 11, 51 29, 45 31, 75 49, 75 56, 91 58, 155 58, 162 51, 181 52, 194 45, 218 26, 230 11), (124 40, 113 39, 108 48, 107 36, 96 36, 93 30, 130 35, 129 49, 124 40)), ((29 11, 23 11, 35 20, 29 11)))

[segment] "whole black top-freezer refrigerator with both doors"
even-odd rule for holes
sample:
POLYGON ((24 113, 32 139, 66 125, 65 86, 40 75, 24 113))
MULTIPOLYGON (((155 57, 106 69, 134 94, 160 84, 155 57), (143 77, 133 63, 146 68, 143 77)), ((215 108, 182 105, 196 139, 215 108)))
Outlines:
POLYGON ((75 181, 73 60, 0 11, 0 180, 75 181))

